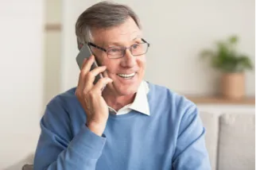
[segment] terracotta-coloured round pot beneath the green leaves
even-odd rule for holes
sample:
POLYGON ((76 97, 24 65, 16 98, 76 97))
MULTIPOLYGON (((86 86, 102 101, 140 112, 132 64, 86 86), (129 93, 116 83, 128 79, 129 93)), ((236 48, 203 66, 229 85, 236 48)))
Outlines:
POLYGON ((221 92, 227 99, 242 99, 245 95, 245 75, 243 73, 223 73, 221 92))

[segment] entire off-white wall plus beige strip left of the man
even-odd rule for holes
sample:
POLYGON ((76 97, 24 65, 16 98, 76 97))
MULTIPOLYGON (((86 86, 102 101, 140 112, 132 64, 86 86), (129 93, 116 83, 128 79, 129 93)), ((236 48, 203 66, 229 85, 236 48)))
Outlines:
POLYGON ((61 1, 15 4, 0 2, 0 169, 5 170, 33 163, 45 104, 60 92, 61 1))

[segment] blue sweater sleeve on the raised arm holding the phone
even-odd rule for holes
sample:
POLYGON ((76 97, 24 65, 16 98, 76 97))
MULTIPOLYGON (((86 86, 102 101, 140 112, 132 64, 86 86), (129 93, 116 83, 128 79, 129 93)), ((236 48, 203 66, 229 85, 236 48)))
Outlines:
POLYGON ((48 104, 40 126, 35 170, 95 170, 106 138, 92 133, 85 124, 72 137, 68 113, 60 100, 54 99, 48 104))

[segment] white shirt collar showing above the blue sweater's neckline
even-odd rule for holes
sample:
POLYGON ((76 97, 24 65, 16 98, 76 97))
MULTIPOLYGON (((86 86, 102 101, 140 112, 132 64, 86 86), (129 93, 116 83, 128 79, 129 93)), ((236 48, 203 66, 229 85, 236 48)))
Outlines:
POLYGON ((135 96, 134 102, 123 106, 120 110, 116 111, 109 106, 109 110, 114 112, 116 115, 128 114, 131 110, 136 110, 142 114, 149 115, 149 102, 147 94, 149 93, 149 85, 144 80, 138 87, 137 94, 135 96))

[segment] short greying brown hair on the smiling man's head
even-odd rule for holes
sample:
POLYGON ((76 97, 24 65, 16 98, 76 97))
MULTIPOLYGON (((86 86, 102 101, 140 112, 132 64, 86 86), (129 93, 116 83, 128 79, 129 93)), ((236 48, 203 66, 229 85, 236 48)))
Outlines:
POLYGON ((108 29, 118 26, 129 17, 134 19, 138 28, 141 29, 137 14, 129 6, 104 1, 87 8, 76 21, 78 48, 80 49, 80 44, 92 41, 92 29, 108 29))

